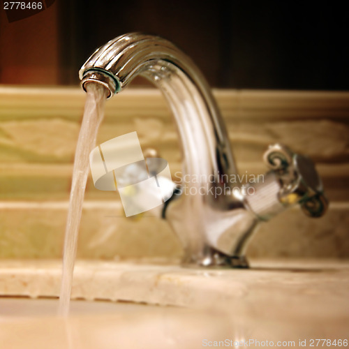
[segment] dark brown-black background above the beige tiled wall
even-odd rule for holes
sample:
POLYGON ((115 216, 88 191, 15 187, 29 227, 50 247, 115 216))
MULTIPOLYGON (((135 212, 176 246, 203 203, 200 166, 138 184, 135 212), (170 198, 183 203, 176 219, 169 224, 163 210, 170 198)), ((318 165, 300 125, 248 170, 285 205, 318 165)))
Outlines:
POLYGON ((348 22, 348 10, 334 2, 57 0, 1 25, 8 57, 0 59, 0 77, 5 84, 78 84, 96 47, 145 31, 181 47, 213 87, 348 90, 348 22), (13 36, 15 26, 22 29, 13 36), (11 45, 22 55, 7 52, 11 45))

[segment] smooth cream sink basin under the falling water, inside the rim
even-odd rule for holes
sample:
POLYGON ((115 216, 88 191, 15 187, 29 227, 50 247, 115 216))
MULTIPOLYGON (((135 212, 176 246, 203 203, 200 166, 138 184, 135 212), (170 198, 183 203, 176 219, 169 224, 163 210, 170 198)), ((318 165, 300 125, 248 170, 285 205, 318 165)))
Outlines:
POLYGON ((58 318, 57 306, 57 299, 0 298, 3 348, 197 348, 228 336, 228 322, 214 313, 73 301, 70 316, 58 318))

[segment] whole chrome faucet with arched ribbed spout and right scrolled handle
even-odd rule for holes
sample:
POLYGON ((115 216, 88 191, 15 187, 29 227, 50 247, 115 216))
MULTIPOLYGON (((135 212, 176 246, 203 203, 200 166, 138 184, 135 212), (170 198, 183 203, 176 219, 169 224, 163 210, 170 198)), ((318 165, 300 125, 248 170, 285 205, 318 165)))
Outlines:
POLYGON ((181 139, 183 181, 162 216, 184 247, 184 263, 248 267, 246 245, 258 222, 299 203, 309 216, 325 213, 327 199, 311 160, 274 144, 265 152, 262 182, 234 188, 237 174, 223 119, 198 68, 168 40, 133 33, 98 48, 79 72, 82 87, 105 86, 108 97, 137 75, 161 90, 181 139), (242 190, 244 189, 244 190, 242 190))

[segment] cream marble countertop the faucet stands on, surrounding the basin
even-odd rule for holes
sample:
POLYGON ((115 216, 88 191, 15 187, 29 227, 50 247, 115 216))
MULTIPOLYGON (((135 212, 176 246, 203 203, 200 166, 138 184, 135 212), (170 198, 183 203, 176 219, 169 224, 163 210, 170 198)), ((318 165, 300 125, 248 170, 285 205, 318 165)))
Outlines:
MULTIPOLYGON (((0 295, 57 297, 60 276, 59 260, 2 260, 0 295)), ((348 338, 348 296, 349 262, 338 260, 252 260, 251 269, 78 260, 72 291, 73 299, 204 312, 227 336, 239 329, 285 340, 348 338)))

